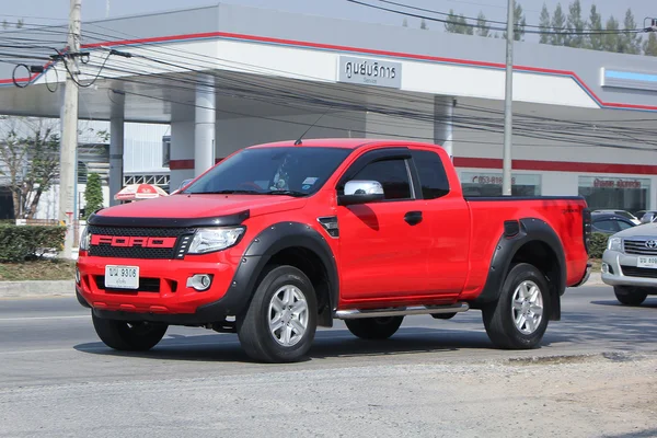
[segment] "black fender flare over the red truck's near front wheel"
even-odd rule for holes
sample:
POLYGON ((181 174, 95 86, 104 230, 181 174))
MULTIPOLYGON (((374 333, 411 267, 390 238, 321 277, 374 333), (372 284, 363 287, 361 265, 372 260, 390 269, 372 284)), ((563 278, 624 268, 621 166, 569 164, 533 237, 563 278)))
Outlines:
POLYGON ((312 251, 322 261, 328 280, 331 310, 335 310, 338 300, 337 266, 326 239, 306 223, 278 222, 261 231, 244 252, 229 290, 221 300, 224 306, 229 304, 231 314, 240 314, 246 309, 265 266, 276 253, 288 247, 312 251))

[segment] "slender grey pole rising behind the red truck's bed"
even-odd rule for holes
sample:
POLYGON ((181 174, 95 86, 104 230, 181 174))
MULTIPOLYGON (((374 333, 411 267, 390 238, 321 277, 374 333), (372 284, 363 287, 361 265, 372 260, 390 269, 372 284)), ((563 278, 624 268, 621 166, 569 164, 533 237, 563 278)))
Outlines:
POLYGON ((504 150, 502 155, 502 194, 511 196, 511 140, 512 140, 512 102, 514 102, 514 15, 516 4, 508 0, 507 11, 507 59, 506 87, 504 97, 504 150))

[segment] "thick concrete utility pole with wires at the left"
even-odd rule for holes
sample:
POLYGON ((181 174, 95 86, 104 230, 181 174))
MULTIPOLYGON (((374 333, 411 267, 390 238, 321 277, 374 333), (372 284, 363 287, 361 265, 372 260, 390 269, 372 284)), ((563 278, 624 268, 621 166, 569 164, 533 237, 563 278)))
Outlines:
POLYGON ((71 0, 69 14, 69 30, 67 53, 64 61, 67 62, 66 89, 64 94, 64 117, 61 120, 61 147, 59 152, 59 210, 58 219, 66 223, 66 239, 64 242, 64 258, 72 257, 73 223, 76 198, 76 168, 78 154, 78 84, 72 74, 78 73, 76 56, 80 53, 80 10, 82 0, 71 0))

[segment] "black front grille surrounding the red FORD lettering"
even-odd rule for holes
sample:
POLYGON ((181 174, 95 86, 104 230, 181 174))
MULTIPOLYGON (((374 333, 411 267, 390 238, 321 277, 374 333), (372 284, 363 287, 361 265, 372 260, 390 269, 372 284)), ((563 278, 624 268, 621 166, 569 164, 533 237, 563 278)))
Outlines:
POLYGON ((95 235, 117 235, 126 238, 175 238, 173 247, 91 245, 89 255, 96 257, 172 260, 183 258, 189 247, 195 230, 193 228, 122 228, 89 226, 95 235))

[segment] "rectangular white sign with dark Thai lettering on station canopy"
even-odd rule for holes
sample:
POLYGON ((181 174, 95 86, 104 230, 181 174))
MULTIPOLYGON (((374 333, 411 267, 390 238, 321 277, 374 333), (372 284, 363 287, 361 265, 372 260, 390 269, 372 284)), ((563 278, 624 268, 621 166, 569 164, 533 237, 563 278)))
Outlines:
POLYGON ((360 85, 402 88, 402 64, 341 56, 337 80, 360 85))

